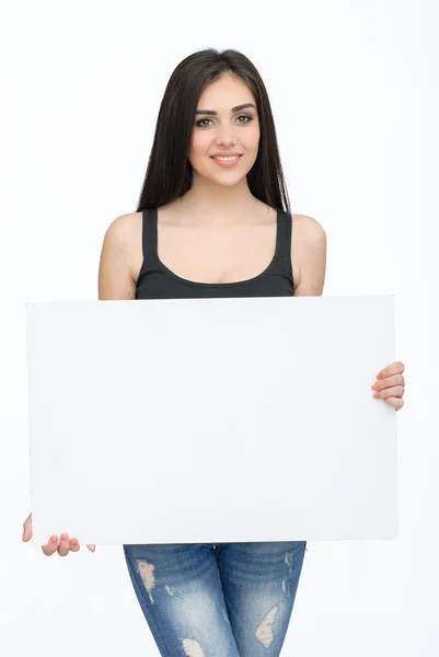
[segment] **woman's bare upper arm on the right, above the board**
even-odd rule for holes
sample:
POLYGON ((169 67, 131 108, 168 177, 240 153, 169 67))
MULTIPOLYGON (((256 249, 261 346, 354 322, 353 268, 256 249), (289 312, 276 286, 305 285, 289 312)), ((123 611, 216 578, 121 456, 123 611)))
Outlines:
POLYGON ((321 296, 326 273, 326 233, 312 217, 294 217, 291 260, 299 272, 294 297, 321 296))

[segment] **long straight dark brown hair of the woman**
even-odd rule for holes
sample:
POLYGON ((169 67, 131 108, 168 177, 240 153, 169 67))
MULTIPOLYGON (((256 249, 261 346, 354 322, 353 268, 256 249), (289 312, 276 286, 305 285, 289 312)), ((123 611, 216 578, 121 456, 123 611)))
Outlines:
POLYGON ((269 207, 291 211, 272 108, 256 67, 238 50, 207 48, 183 59, 167 82, 137 212, 171 203, 190 188, 193 169, 187 153, 197 103, 204 89, 224 73, 239 77, 256 100, 261 138, 247 173, 249 188, 269 207))

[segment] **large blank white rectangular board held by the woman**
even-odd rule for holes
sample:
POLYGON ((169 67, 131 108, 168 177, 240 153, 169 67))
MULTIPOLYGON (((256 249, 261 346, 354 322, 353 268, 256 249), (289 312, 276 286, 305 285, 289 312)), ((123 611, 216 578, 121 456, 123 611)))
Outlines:
POLYGON ((394 298, 26 304, 33 544, 397 538, 394 298))

